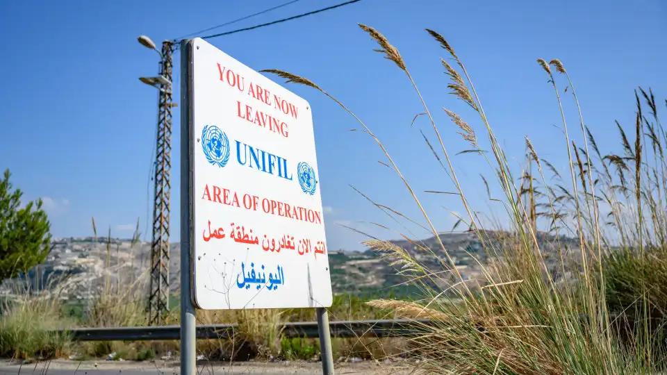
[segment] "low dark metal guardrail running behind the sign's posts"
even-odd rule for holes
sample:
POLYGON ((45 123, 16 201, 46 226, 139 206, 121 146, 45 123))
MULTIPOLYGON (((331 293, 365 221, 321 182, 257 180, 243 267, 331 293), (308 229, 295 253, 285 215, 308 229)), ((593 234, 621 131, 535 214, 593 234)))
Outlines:
MULTIPOLYGON (((414 336, 425 332, 427 319, 418 320, 357 320, 330 322, 331 337, 377 338, 414 336)), ((198 339, 229 339, 238 331, 238 324, 211 324, 197 326, 198 339)), ((72 328, 58 330, 71 335, 74 341, 156 341, 180 340, 181 326, 117 327, 117 328, 72 328)), ((283 324, 283 337, 318 338, 318 322, 283 324)))

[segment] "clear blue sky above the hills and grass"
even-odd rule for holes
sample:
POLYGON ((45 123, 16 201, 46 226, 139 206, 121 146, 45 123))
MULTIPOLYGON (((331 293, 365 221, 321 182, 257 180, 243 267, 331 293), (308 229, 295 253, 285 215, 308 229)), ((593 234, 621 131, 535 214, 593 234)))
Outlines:
MULTIPOLYGON (((220 31, 334 5, 301 0, 220 31)), ((178 38, 286 1, 0 1, 0 168, 10 168, 26 199, 42 197, 58 237, 89 235, 90 218, 113 235, 129 236, 149 206, 149 167, 156 122, 156 90, 139 76, 156 73, 157 54, 136 42, 178 38)), ((452 154, 466 149, 440 107, 459 111, 481 136, 479 121, 447 94, 438 58, 442 49, 424 28, 447 38, 466 64, 497 135, 517 166, 528 135, 538 153, 566 167, 554 92, 535 63, 560 58, 575 81, 586 124, 603 150, 618 144, 614 119, 630 126, 637 86, 667 97, 667 4, 636 1, 363 0, 319 15, 210 40, 254 69, 285 69, 318 83, 365 119, 402 166, 416 190, 451 191, 451 183, 418 129, 420 102, 393 63, 356 23, 374 26, 401 51, 442 129, 452 154)), ((180 55, 176 55, 176 62, 180 55)), ((176 66, 178 63, 176 63, 176 66)), ((179 74, 176 69, 175 74, 179 74)), ((176 80, 178 82, 178 80, 176 80)), ((564 88, 562 81, 561 91, 564 88)), ((349 132, 357 125, 318 92, 289 86, 313 106, 329 249, 360 249, 360 235, 336 224, 390 224, 349 188, 352 184, 396 210, 417 217, 400 181, 377 163, 372 140, 349 132), (362 222, 362 223, 359 223, 362 222)), ((178 88, 175 97, 178 98, 178 88)), ((571 113, 570 97, 566 107, 571 113)), ((661 106, 664 112, 666 108, 661 106)), ((179 111, 174 113, 172 239, 179 238, 179 111)), ((575 139, 578 120, 570 117, 575 139)), ((432 130, 431 130, 432 131, 432 130)), ((481 158, 454 157, 475 204, 486 202, 481 158)), ((424 194, 422 194, 424 196, 424 194)), ((440 230, 460 210, 454 196, 425 196, 440 230)), ((374 231, 385 238, 390 232, 374 231)), ((148 237, 148 236, 147 236, 148 237)))

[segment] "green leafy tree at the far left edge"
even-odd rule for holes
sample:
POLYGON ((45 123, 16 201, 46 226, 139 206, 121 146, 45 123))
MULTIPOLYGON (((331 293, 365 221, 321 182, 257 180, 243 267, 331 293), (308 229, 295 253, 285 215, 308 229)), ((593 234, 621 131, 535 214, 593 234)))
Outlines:
POLYGON ((51 224, 42 199, 21 208, 23 192, 13 190, 9 169, 0 181, 0 281, 27 272, 51 251, 51 224))

